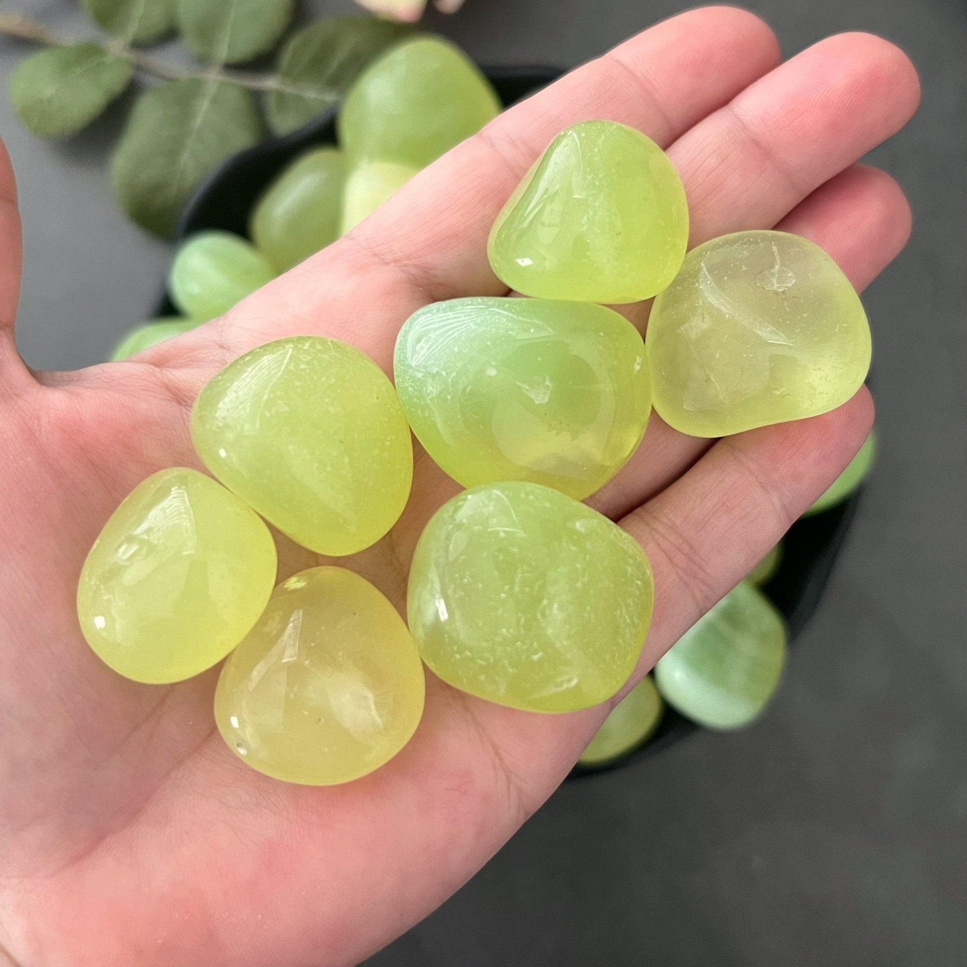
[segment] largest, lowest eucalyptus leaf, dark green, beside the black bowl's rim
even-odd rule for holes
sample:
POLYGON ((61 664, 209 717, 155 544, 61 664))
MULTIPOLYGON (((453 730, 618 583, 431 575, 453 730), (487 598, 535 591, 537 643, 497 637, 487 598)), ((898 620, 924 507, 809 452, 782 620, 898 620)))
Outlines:
POLYGON ((200 182, 262 133, 255 101, 226 81, 173 80, 134 104, 111 161, 121 206, 143 228, 169 235, 200 182))

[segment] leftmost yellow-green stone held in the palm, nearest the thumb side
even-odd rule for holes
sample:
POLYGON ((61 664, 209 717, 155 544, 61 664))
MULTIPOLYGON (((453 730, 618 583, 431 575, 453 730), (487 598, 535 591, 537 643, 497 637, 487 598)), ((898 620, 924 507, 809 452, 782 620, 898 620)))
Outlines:
POLYGON ((138 484, 94 542, 77 585, 88 644, 137 682, 180 682, 249 632, 276 582, 269 529, 185 467, 138 484))

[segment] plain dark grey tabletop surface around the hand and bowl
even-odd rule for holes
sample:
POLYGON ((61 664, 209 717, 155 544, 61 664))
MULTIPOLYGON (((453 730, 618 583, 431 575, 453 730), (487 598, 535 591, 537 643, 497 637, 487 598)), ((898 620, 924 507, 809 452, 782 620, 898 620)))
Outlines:
MULTIPOLYGON (((483 63, 571 66, 681 6, 467 0, 429 24, 483 63)), ((882 455, 860 518, 757 725, 562 787, 371 967, 967 962, 967 6, 749 6, 787 55, 864 29, 905 47, 923 77, 919 115, 872 158, 907 190, 916 228, 865 299, 882 455)), ((67 0, 20 9, 75 16, 67 0)), ((22 49, 0 44, 4 77, 22 49)), ((157 294, 168 249, 121 217, 107 185, 120 118, 50 144, 0 100, 24 220, 19 344, 33 366, 102 359, 157 294)))

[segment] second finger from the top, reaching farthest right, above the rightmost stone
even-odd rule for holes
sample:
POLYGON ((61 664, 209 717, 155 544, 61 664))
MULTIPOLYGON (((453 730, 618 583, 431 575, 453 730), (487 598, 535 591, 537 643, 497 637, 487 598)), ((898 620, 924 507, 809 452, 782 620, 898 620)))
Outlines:
POLYGON ((920 100, 901 50, 869 34, 828 38, 689 131, 670 155, 689 191, 692 245, 770 228, 898 131, 920 100))

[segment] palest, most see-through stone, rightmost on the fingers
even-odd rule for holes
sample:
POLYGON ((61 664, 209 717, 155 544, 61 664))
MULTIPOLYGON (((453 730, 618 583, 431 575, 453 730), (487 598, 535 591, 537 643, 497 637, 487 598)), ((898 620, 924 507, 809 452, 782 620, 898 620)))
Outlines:
POLYGON ((646 337, 655 409, 693 436, 818 416, 860 389, 863 305, 832 258, 785 232, 692 249, 655 300, 646 337))

